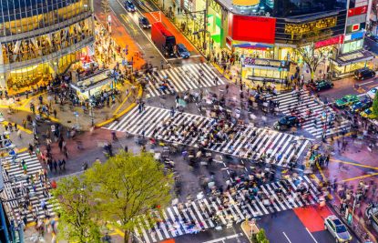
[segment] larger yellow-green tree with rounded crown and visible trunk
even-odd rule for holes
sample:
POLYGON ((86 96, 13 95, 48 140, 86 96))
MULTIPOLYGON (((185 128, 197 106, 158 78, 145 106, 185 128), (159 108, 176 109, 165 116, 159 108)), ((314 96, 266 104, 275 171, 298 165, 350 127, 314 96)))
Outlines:
POLYGON ((124 231, 124 242, 137 226, 152 220, 153 209, 167 206, 171 199, 172 174, 149 153, 121 152, 104 164, 95 163, 85 177, 96 188, 99 215, 124 231))

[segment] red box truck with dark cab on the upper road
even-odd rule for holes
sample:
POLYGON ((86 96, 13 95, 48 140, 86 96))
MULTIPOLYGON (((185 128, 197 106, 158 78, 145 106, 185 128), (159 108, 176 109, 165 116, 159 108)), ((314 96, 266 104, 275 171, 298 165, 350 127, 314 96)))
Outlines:
POLYGON ((175 35, 172 35, 161 22, 152 24, 151 39, 164 56, 169 57, 175 55, 175 35))

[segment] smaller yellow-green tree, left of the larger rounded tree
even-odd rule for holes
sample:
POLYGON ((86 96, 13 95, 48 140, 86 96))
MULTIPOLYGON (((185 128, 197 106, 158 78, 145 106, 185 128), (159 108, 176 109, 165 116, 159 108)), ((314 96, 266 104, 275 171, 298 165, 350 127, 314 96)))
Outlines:
POLYGON ((92 187, 83 177, 63 177, 52 191, 56 214, 60 215, 59 238, 69 242, 100 242, 92 187))

